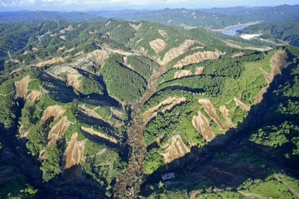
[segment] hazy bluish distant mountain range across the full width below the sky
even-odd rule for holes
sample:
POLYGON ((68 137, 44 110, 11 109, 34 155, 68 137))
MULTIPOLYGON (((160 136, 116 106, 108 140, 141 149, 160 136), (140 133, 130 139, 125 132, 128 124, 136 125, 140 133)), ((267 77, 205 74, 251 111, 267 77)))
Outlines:
POLYGON ((276 7, 230 7, 190 10, 185 8, 163 10, 100 10, 87 12, 14 11, 0 12, 0 23, 42 22, 45 20, 66 22, 103 22, 106 18, 138 22, 148 20, 164 25, 208 27, 219 29, 238 23, 275 21, 299 18, 299 5, 276 7), (105 17, 105 18, 103 18, 105 17))

